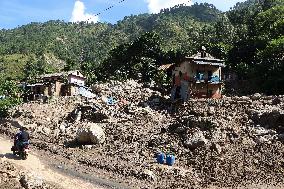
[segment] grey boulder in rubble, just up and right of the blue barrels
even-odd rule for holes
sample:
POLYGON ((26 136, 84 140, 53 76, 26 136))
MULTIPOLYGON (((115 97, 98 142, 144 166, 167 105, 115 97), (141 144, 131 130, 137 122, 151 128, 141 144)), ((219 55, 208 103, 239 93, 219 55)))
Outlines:
POLYGON ((197 131, 186 139, 184 145, 190 149, 195 149, 201 146, 205 146, 207 143, 208 140, 204 137, 203 133, 201 131, 197 131))

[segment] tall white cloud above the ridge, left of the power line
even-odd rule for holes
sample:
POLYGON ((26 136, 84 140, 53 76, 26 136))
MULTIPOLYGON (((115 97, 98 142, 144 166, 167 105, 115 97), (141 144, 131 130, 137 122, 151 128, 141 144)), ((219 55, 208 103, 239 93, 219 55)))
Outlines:
POLYGON ((95 16, 93 14, 88 14, 85 12, 85 5, 83 2, 77 0, 75 2, 73 11, 72 11, 72 17, 70 19, 70 22, 81 22, 81 21, 86 21, 88 23, 91 22, 98 22, 99 21, 99 17, 95 16))

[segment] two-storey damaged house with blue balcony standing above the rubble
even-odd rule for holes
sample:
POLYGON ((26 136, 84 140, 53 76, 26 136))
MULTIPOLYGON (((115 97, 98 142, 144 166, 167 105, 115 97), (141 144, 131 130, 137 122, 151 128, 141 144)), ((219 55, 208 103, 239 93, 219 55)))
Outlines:
POLYGON ((175 64, 172 67, 172 99, 221 98, 223 62, 202 47, 197 54, 175 64))

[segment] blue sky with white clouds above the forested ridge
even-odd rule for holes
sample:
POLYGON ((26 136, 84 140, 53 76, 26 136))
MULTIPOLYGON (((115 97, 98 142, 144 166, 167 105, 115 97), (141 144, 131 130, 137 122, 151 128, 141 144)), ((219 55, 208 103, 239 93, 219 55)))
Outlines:
POLYGON ((0 0, 0 29, 48 20, 116 23, 125 16, 158 13, 163 8, 196 2, 227 11, 242 1, 245 0, 0 0), (106 10, 109 7, 112 8, 106 10))

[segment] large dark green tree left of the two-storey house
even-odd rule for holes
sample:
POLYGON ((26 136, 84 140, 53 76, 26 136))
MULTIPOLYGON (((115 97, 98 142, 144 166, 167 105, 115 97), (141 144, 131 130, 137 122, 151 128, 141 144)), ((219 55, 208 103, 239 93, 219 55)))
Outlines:
POLYGON ((159 36, 146 32, 133 43, 120 45, 111 51, 110 57, 101 65, 102 77, 141 77, 142 81, 150 81, 157 73, 161 53, 159 36))

